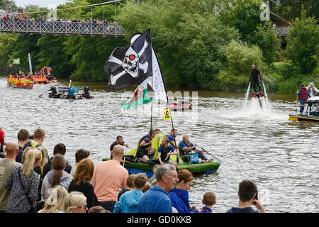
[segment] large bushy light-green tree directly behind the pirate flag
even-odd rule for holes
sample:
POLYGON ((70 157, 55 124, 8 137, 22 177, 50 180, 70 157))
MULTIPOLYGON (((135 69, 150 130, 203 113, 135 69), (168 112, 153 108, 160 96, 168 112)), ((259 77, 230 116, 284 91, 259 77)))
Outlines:
POLYGON ((152 28, 152 41, 167 85, 214 89, 224 67, 223 45, 238 37, 211 14, 201 14, 190 1, 128 2, 118 22, 130 37, 152 28), (178 73, 178 74, 177 74, 178 73), (171 77, 167 79, 167 77, 171 77), (172 80, 174 78, 174 80, 172 80))

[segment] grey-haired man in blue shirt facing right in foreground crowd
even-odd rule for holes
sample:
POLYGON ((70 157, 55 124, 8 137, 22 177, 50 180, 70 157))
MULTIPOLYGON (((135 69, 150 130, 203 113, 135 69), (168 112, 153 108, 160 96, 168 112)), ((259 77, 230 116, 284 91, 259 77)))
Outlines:
POLYGON ((179 181, 174 165, 157 165, 154 169, 157 185, 143 194, 138 204, 138 213, 172 213, 172 202, 167 193, 179 181))

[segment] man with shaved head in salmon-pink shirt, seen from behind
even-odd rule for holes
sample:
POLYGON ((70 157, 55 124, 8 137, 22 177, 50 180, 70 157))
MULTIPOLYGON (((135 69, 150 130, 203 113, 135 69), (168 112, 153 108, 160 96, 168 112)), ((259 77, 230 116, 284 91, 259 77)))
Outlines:
POLYGON ((98 198, 99 206, 113 212, 118 198, 120 187, 126 189, 128 170, 121 165, 124 157, 124 148, 115 145, 113 148, 113 160, 101 162, 96 166, 92 178, 94 192, 98 198))

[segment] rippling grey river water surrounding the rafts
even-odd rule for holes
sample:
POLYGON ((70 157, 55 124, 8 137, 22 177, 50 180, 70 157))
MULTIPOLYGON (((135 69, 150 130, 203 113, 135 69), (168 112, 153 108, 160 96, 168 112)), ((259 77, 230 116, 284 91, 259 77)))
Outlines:
MULTIPOLYGON (((132 92, 106 92, 106 84, 88 85, 94 99, 69 101, 39 98, 50 85, 11 89, 0 78, 0 128, 6 142, 16 140, 21 128, 30 133, 43 128, 43 145, 50 155, 57 143, 64 143, 72 165, 79 148, 90 151, 95 165, 109 157, 116 135, 123 135, 135 148, 150 130, 151 104, 123 111, 121 103, 132 92)), ((257 184, 259 199, 268 212, 319 211, 319 124, 289 121, 296 96, 269 93, 267 108, 260 109, 250 96, 245 105, 245 92, 174 91, 169 96, 179 93, 189 95, 194 109, 172 114, 179 133, 177 143, 187 133, 192 142, 223 161, 218 172, 194 179, 191 205, 201 207, 203 194, 214 192, 213 212, 225 212, 237 206, 238 184, 250 179, 257 184)), ((169 133, 172 123, 163 121, 163 106, 153 101, 152 128, 169 133)))

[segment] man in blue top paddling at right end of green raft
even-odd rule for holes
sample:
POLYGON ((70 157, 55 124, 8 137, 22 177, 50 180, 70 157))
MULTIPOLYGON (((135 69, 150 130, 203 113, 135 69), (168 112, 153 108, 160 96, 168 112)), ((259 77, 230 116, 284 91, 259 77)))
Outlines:
POLYGON ((208 157, 206 157, 206 155, 204 155, 203 150, 196 148, 197 147, 197 143, 191 143, 189 141, 189 136, 184 134, 183 135, 183 140, 179 143, 179 154, 181 156, 181 159, 184 162, 189 162, 189 158, 186 157, 186 155, 191 154, 191 151, 194 150, 195 153, 198 154, 199 157, 201 157, 201 159, 203 161, 208 161, 208 157))

